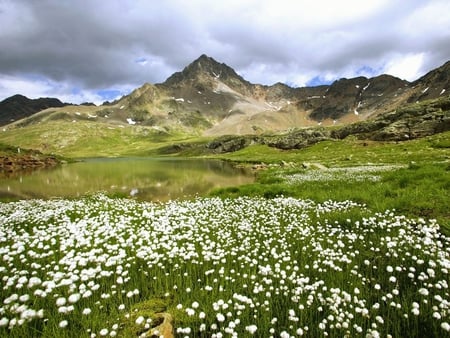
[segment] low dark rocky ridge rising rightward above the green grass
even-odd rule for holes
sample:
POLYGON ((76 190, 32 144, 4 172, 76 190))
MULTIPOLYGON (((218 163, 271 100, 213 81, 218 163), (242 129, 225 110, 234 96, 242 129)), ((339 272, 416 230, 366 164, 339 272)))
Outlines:
POLYGON ((225 135, 213 139, 203 149, 195 144, 173 144, 161 154, 176 154, 197 147, 198 153, 234 152, 252 144, 290 150, 302 149, 325 140, 348 136, 360 140, 405 141, 450 130, 450 97, 422 103, 406 104, 398 110, 381 113, 375 118, 334 128, 308 127, 265 135, 225 135), (206 149, 205 149, 206 148, 206 149))

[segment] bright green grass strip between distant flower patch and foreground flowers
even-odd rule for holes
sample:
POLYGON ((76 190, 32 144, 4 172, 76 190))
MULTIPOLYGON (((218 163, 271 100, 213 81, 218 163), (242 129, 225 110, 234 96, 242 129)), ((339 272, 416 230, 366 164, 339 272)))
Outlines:
POLYGON ((381 172, 376 182, 336 178, 326 181, 286 182, 283 177, 311 170, 273 169, 258 175, 254 184, 217 189, 212 196, 290 196, 323 202, 328 199, 352 200, 374 211, 395 209, 411 217, 435 218, 450 235, 450 166, 413 165, 381 172))

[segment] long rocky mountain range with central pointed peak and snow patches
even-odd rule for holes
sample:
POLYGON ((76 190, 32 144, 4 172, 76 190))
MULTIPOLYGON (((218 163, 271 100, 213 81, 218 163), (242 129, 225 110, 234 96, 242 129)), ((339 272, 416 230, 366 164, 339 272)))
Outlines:
POLYGON ((141 125, 164 133, 261 134, 373 120, 449 93, 450 61, 414 82, 380 75, 292 88, 250 83, 230 66, 201 55, 163 83, 146 83, 111 104, 50 108, 16 125, 64 119, 141 125))

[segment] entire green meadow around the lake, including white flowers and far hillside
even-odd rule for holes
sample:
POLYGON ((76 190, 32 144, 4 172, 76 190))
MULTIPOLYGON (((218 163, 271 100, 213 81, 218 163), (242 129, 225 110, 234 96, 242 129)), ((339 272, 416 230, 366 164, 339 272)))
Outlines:
POLYGON ((41 126, 0 142, 67 157, 190 143, 170 156, 252 167, 256 182, 162 203, 0 203, 0 336, 153 337, 167 316, 175 337, 450 335, 450 133, 212 154, 208 139, 75 124, 85 137, 58 140, 56 123, 52 142, 41 126))

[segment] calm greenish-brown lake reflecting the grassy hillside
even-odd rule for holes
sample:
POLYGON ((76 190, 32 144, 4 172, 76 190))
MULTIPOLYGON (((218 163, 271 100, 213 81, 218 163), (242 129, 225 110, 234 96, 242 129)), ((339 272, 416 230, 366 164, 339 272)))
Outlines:
POLYGON ((99 158, 0 177, 0 200, 80 197, 104 191, 141 200, 166 201, 253 181, 249 171, 218 160, 99 158))

